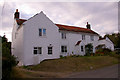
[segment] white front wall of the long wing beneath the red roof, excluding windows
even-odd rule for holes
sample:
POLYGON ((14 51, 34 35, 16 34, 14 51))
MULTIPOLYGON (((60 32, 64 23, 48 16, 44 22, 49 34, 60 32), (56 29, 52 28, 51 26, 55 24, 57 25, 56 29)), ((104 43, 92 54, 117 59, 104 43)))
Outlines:
MULTIPOLYGON (((74 54, 78 54, 78 51, 76 52, 76 49, 77 50, 80 50, 81 49, 78 49, 78 47, 76 48, 76 43, 78 41, 82 41, 82 43, 79 45, 79 48, 81 48, 81 46, 85 46, 89 43, 94 43, 94 41, 98 41, 99 39, 99 36, 96 35, 96 34, 89 34, 89 33, 82 33, 82 32, 69 32, 69 31, 60 31, 60 36, 61 36, 61 33, 64 32, 66 33, 66 39, 62 39, 60 37, 60 44, 61 45, 67 45, 68 47, 68 52, 67 53, 61 53, 63 55, 65 54, 72 54, 72 52, 74 54), (82 40, 82 35, 85 35, 85 40, 82 40), (93 35, 94 36, 94 41, 91 41, 91 38, 90 36, 93 35)), ((93 45, 93 52, 95 52, 95 46, 93 45)), ((82 55, 85 54, 85 52, 80 52, 82 55)))

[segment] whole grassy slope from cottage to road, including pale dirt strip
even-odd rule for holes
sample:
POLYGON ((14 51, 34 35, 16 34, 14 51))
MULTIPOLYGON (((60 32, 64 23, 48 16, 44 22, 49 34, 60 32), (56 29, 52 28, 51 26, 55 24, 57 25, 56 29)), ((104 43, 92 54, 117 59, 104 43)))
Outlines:
POLYGON ((118 59, 110 56, 69 56, 44 60, 38 65, 22 66, 15 69, 22 77, 63 77, 63 75, 72 72, 98 69, 114 64, 118 64, 118 59))

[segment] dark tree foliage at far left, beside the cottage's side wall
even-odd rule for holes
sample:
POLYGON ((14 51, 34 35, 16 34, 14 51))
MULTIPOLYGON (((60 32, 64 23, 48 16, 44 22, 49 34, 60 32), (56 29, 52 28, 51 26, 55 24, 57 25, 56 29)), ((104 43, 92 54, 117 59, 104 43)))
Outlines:
POLYGON ((17 65, 16 58, 11 55, 11 42, 8 42, 8 39, 5 35, 2 37, 2 79, 10 80, 12 67, 17 65))

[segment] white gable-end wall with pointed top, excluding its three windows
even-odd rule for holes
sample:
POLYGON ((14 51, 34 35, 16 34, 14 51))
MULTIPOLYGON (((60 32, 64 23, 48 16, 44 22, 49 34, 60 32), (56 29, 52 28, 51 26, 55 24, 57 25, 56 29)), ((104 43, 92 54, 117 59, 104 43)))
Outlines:
POLYGON ((38 64, 44 59, 60 56, 58 27, 42 12, 29 19, 24 25, 24 65, 38 64), (46 36, 39 36, 39 28, 46 29, 46 36), (48 46, 53 46, 53 54, 48 55, 48 46), (33 48, 42 47, 42 54, 34 55, 33 48))

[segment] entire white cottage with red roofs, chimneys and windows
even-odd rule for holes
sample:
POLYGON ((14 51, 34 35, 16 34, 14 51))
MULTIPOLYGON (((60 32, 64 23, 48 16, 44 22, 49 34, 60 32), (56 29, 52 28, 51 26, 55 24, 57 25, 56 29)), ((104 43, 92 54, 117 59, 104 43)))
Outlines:
POLYGON ((45 59, 60 55, 85 55, 85 45, 93 44, 93 52, 100 44, 114 50, 110 40, 99 40, 99 34, 87 28, 53 23, 42 11, 28 20, 20 19, 18 9, 14 14, 12 54, 20 65, 35 65, 45 59), (111 45, 110 45, 111 44, 111 45))

